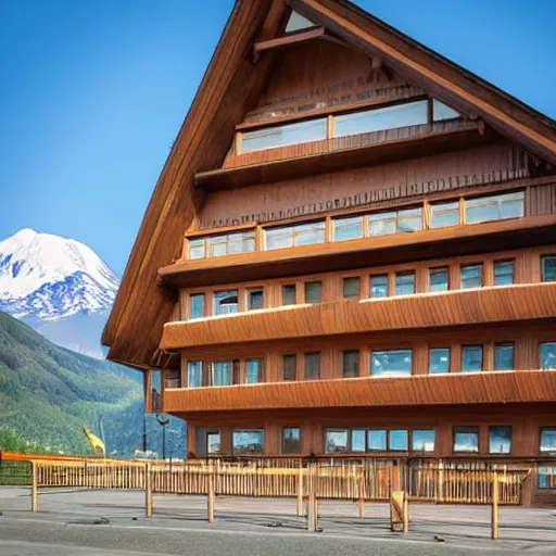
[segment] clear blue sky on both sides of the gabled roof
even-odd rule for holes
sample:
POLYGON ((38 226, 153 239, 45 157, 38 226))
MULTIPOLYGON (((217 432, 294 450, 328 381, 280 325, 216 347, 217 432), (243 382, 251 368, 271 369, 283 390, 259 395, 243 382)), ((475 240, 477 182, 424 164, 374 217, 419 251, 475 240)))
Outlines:
MULTIPOLYGON (((556 118, 554 0, 358 0, 556 118)), ((0 239, 30 227, 123 273, 232 0, 0 0, 0 239)))

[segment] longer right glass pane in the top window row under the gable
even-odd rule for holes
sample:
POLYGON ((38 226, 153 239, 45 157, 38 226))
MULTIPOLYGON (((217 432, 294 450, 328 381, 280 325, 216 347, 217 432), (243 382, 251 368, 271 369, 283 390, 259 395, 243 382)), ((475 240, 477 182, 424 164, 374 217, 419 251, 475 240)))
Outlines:
POLYGON ((334 137, 416 126, 427 124, 427 119, 426 100, 396 104, 384 109, 354 112, 336 118, 334 137))

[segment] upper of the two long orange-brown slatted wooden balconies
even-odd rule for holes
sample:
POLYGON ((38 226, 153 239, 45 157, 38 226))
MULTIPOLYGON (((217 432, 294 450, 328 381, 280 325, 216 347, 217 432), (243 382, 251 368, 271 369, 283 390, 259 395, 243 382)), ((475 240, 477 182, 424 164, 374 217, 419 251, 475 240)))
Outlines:
POLYGON ((547 318, 556 318, 556 282, 341 300, 168 323, 161 349, 547 318))

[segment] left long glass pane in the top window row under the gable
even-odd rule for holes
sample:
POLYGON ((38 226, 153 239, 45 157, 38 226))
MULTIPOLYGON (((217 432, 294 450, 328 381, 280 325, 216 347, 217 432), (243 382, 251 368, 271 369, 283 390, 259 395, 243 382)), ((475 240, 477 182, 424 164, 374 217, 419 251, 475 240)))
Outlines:
POLYGON ((320 141, 327 138, 326 118, 307 119, 296 124, 266 127, 241 134, 241 152, 261 151, 289 144, 320 141))

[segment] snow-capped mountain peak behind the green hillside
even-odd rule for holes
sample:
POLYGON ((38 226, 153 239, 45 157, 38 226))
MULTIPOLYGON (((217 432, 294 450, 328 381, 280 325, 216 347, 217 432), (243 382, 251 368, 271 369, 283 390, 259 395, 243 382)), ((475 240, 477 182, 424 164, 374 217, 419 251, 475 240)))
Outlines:
POLYGON ((114 273, 78 241, 31 229, 0 241, 0 311, 61 345, 102 355, 100 332, 118 286, 114 273), (94 338, 80 349, 90 333, 94 338))

